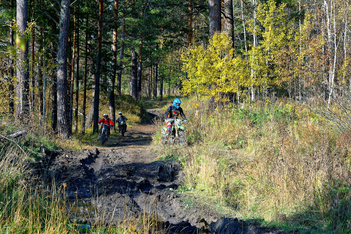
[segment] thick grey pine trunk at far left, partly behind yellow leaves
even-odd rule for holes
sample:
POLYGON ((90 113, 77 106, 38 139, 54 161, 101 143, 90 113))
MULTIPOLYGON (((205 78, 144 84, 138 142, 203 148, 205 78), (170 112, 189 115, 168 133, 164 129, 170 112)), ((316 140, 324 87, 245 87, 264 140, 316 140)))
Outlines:
POLYGON ((29 113, 29 61, 28 61, 28 41, 25 39, 28 19, 28 1, 17 0, 16 22, 21 39, 21 50, 18 52, 17 60, 17 86, 16 96, 18 105, 16 107, 16 116, 28 116, 29 113))

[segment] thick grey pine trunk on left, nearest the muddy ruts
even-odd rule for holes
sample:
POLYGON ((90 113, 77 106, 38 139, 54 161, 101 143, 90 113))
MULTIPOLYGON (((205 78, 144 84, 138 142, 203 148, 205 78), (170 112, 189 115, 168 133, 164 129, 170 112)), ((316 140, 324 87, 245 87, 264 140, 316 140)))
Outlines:
POLYGON ((62 139, 69 139, 69 106, 67 95, 67 47, 69 29, 69 0, 61 1, 59 48, 57 55, 57 109, 58 132, 62 139))

